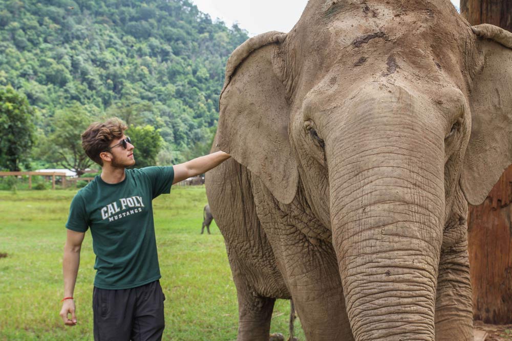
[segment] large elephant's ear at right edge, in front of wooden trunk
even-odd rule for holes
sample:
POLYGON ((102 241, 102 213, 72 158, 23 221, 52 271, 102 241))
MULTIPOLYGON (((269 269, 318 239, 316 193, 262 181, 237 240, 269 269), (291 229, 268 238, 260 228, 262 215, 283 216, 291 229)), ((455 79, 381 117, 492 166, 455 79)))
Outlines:
POLYGON ((497 26, 474 26, 483 57, 473 77, 471 138, 464 155, 460 185, 477 205, 512 164, 512 33, 497 26))

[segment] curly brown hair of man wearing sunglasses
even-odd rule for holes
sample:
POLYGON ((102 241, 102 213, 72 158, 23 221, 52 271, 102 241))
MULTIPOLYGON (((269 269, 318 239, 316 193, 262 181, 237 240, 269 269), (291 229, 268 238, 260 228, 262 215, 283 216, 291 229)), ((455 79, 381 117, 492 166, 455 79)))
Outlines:
POLYGON ((82 133, 82 148, 92 161, 103 166, 99 154, 106 151, 113 140, 122 137, 127 128, 118 118, 94 122, 82 133))

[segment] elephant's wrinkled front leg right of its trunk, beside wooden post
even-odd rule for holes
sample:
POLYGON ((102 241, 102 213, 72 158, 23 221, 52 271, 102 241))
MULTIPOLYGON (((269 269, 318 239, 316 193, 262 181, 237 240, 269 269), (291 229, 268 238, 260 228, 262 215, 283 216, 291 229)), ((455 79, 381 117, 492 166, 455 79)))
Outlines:
POLYGON ((467 242, 441 251, 436 294, 436 340, 473 340, 467 242))

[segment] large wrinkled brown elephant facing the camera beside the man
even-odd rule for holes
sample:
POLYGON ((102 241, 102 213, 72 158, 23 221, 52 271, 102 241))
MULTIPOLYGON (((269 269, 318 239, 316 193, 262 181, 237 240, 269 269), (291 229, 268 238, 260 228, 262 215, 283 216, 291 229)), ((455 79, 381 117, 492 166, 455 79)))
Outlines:
POLYGON ((448 0, 310 0, 231 54, 206 189, 238 340, 473 340, 467 202, 512 163, 512 34, 448 0))

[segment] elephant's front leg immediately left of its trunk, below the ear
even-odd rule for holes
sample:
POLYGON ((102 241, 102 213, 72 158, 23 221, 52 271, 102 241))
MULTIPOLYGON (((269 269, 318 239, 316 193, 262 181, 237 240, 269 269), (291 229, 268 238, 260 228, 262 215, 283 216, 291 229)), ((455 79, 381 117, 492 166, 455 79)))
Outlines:
POLYGON ((298 196, 283 206, 269 199, 264 186, 257 184, 253 191, 307 341, 353 340, 331 232, 312 219, 298 196))

